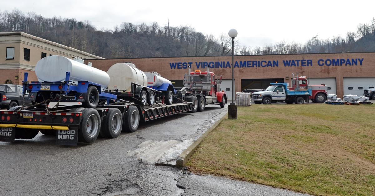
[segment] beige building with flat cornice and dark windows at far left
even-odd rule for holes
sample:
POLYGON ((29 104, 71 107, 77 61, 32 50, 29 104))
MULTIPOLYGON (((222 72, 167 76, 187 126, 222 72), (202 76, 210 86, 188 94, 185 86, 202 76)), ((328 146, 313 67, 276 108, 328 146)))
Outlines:
POLYGON ((28 81, 37 81, 34 73, 36 63, 42 52, 49 55, 60 55, 67 58, 104 59, 59 43, 51 42, 23 32, 0 33, 0 84, 11 80, 21 84, 24 72, 28 72, 28 81), (14 47, 14 59, 6 59, 6 48, 14 47), (30 60, 24 60, 24 49, 30 49, 30 60))

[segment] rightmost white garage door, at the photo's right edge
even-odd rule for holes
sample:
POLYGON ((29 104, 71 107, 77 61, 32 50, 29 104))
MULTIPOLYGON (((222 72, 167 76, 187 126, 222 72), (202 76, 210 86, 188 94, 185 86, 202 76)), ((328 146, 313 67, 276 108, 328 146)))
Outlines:
POLYGON ((363 96, 363 90, 375 86, 375 78, 344 78, 344 94, 363 96))

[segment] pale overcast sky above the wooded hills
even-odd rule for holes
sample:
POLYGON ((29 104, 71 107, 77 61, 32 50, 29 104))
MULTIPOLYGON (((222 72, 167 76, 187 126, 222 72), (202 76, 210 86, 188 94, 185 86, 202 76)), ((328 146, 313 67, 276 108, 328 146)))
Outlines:
POLYGON ((305 43, 319 34, 320 39, 345 36, 360 23, 371 23, 375 1, 126 1, 126 0, 2 0, 0 9, 32 11, 44 17, 62 16, 90 20, 100 28, 113 29, 122 22, 135 24, 156 21, 163 26, 190 25, 204 34, 238 31, 241 45, 263 46, 281 41, 305 43), (308 3, 309 2, 309 3, 308 3), (311 2, 311 3, 310 3, 311 2), (364 3, 365 2, 365 3, 364 3))

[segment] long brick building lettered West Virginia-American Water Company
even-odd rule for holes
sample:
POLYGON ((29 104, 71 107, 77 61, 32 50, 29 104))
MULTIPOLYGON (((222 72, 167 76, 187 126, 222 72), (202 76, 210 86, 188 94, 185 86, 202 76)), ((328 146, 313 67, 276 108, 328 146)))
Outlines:
MULTIPOLYGON (((113 64, 134 63, 144 72, 157 72, 181 86, 184 73, 206 70, 222 75, 222 90, 231 94, 231 56, 90 59, 93 67, 107 71, 113 64)), ((290 82, 292 73, 310 78, 310 84, 326 84, 329 93, 362 95, 375 86, 375 53, 324 53, 242 55, 234 57, 235 91, 263 89, 270 82, 290 82)), ((87 61, 88 62, 88 61, 87 61)), ((87 63, 85 62, 85 63, 87 63)), ((229 97, 228 97, 229 98, 229 97)))

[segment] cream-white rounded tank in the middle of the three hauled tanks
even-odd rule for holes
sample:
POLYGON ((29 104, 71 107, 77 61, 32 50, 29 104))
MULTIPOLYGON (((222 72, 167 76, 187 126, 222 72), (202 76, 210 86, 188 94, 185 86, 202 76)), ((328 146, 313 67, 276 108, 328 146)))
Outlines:
POLYGON ((146 75, 133 63, 116 63, 108 69, 107 73, 111 78, 110 84, 108 84, 110 90, 118 89, 130 92, 132 82, 147 86, 146 75))

